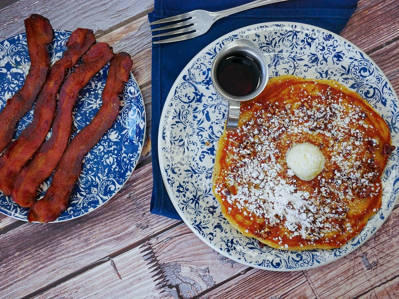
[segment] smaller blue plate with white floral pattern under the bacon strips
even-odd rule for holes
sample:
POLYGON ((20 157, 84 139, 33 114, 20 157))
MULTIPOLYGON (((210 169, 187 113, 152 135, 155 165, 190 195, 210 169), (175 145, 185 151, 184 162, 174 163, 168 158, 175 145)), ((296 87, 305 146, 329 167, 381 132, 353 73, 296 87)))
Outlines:
MULTIPOLYGON (((49 49, 51 62, 61 58, 70 34, 70 31, 54 30, 54 40, 49 49)), ((5 106, 6 100, 22 87, 29 66, 25 33, 0 42, 0 110, 5 106)), ((109 63, 79 93, 73 109, 74 126, 77 131, 90 122, 101 106, 101 94, 108 68, 109 63)), ((17 125, 15 136, 32 121, 32 117, 33 110, 23 116, 17 125)), ((139 160, 144 146, 145 130, 144 101, 131 74, 122 93, 116 121, 85 156, 82 173, 72 192, 70 205, 56 222, 70 220, 96 209, 122 188, 139 160)), ((50 182, 51 179, 48 179, 40 186, 41 196, 50 182)), ((0 192, 0 212, 26 221, 28 209, 15 204, 0 192)))

